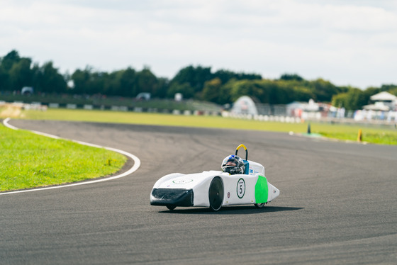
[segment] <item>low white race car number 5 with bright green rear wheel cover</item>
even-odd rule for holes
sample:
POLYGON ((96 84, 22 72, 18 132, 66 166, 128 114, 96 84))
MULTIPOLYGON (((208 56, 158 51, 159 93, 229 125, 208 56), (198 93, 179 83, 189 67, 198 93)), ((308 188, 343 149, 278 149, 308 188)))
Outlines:
POLYGON ((245 145, 239 145, 235 155, 226 157, 222 167, 223 171, 163 176, 153 186, 150 204, 167 206, 169 210, 174 210, 177 206, 201 206, 219 210, 226 205, 251 203, 256 208, 262 208, 280 194, 279 189, 269 184, 264 176, 262 164, 248 160, 245 145), (237 156, 240 147, 245 149, 245 159, 237 156), (242 162, 238 169, 242 171, 234 171, 237 167, 232 166, 237 164, 236 161, 242 162))

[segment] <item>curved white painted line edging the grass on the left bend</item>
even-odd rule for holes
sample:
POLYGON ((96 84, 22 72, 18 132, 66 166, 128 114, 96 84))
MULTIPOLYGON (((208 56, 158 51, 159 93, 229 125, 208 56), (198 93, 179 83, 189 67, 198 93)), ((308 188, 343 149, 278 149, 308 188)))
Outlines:
MULTIPOLYGON (((11 120, 10 118, 6 118, 5 120, 3 120, 3 124, 4 126, 6 126, 7 128, 13 129, 13 130, 19 130, 18 128, 14 127, 13 125, 9 124, 9 120, 11 120)), ((54 139, 63 139, 63 140, 69 140, 66 138, 62 138, 62 137, 58 137, 56 135, 50 135, 47 133, 41 133, 35 130, 31 131, 32 133, 35 133, 37 135, 43 135, 45 137, 51 137, 54 139)), ((23 192, 30 192, 30 191, 44 191, 44 190, 49 190, 52 188, 66 188, 66 187, 71 187, 71 186, 79 186, 79 185, 86 185, 86 184, 94 184, 97 182, 102 182, 102 181, 110 181, 112 179, 119 179, 123 176, 127 176, 129 174, 133 174, 133 172, 137 171, 140 167, 140 159, 138 157, 136 157, 133 154, 130 154, 128 152, 125 152, 123 150, 118 150, 116 148, 112 148, 112 147, 103 147, 101 145, 94 145, 94 144, 90 144, 89 142, 81 142, 81 141, 76 141, 76 140, 71 140, 72 142, 77 142, 80 145, 88 145, 90 147, 97 147, 97 148, 105 148, 106 150, 110 150, 113 152, 118 152, 120 154, 124 154, 126 157, 130 157, 131 159, 133 159, 134 161, 134 165, 133 167, 131 167, 130 169, 128 169, 128 171, 125 171, 122 174, 116 175, 116 176, 110 176, 106 179, 96 179, 94 181, 84 181, 84 182, 78 182, 78 183, 74 183, 74 184, 65 184, 65 185, 60 185, 60 186, 50 186, 50 187, 45 187, 45 188, 33 188, 33 189, 28 189, 28 190, 21 190, 21 191, 9 191, 9 192, 2 192, 0 193, 0 195, 6 195, 6 194, 12 194, 12 193, 23 193, 23 192)))

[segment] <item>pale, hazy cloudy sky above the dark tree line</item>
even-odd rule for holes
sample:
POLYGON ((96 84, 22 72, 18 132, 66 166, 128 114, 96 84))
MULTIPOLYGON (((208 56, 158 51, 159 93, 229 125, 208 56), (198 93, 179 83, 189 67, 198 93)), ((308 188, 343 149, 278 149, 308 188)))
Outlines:
POLYGON ((62 74, 201 65, 337 86, 397 84, 395 0, 0 0, 0 57, 62 74))

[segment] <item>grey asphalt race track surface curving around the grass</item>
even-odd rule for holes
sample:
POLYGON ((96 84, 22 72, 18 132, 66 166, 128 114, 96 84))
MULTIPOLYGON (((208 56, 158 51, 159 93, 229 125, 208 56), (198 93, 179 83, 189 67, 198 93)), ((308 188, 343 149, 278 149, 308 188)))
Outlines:
POLYGON ((396 146, 244 130, 10 124, 125 150, 142 164, 121 179, 1 195, 0 264, 397 264, 396 146), (265 208, 150 205, 161 176, 218 170, 240 143, 281 191, 265 208))

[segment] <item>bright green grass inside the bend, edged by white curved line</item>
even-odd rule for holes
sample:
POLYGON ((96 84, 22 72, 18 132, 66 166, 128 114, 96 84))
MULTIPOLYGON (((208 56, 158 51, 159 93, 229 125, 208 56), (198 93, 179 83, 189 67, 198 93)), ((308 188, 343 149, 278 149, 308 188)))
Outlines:
POLYGON ((0 125, 0 191, 65 184, 113 174, 126 157, 0 125))

